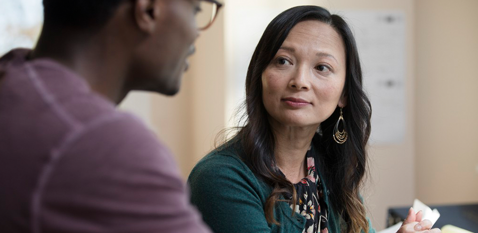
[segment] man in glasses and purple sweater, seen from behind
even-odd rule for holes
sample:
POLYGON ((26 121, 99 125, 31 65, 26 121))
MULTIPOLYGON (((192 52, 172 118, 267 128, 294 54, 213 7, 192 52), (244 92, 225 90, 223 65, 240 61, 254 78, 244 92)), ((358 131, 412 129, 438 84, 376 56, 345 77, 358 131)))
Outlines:
POLYGON ((168 150, 115 109, 178 91, 200 3, 43 0, 35 49, 0 59, 1 233, 209 232, 168 150))

